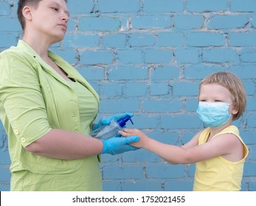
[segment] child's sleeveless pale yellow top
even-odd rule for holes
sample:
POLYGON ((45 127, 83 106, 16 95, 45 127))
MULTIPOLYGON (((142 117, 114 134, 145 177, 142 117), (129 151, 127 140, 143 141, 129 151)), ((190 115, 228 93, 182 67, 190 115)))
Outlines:
MULTIPOLYGON (((198 145, 206 143, 209 133, 210 128, 204 129, 198 139, 198 145)), ((212 138, 225 133, 236 135, 241 143, 243 143, 238 128, 233 125, 222 130, 212 138)), ((243 159, 238 162, 231 162, 222 156, 218 156, 196 163, 193 191, 240 191, 243 164, 248 152, 246 144, 243 143, 243 159)))

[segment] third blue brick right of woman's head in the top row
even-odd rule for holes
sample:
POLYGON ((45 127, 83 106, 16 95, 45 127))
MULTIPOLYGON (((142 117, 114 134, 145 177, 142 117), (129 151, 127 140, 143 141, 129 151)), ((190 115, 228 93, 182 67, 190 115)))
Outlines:
POLYGON ((145 13, 182 12, 184 8, 181 0, 144 0, 143 3, 145 13))

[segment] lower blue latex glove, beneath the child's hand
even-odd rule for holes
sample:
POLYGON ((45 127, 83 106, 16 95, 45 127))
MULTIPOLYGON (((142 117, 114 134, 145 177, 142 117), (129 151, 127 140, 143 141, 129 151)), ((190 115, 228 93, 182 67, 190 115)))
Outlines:
POLYGON ((133 143, 136 141, 139 141, 138 136, 131 136, 128 138, 108 138, 106 140, 101 140, 103 141, 103 151, 101 154, 120 154, 123 152, 128 152, 132 150, 139 149, 135 146, 129 145, 129 143, 133 143))

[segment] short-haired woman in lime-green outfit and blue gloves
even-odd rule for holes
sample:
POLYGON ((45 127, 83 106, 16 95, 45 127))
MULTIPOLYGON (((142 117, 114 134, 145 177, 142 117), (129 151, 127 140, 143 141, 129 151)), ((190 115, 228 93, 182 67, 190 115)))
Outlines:
MULTIPOLYGON (((18 1, 23 40, 0 54, 0 115, 9 138, 11 191, 101 191, 97 154, 134 150, 132 137, 100 141, 90 128, 99 97, 49 46, 63 39, 64 0, 18 1)), ((132 116, 132 114, 128 114, 132 116)))

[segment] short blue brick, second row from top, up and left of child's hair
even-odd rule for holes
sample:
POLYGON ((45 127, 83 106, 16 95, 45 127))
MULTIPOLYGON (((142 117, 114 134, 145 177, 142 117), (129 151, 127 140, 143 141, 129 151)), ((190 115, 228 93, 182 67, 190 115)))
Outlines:
POLYGON ((201 15, 176 15, 174 16, 174 27, 177 29, 200 29, 204 24, 201 15))

